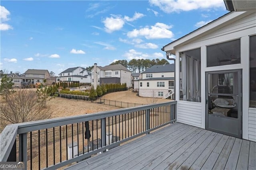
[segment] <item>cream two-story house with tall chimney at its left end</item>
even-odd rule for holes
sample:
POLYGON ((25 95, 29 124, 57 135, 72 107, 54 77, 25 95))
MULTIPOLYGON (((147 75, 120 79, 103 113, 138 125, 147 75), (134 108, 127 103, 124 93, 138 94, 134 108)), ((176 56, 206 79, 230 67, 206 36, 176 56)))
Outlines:
POLYGON ((102 83, 126 83, 126 87, 131 87, 131 71, 121 64, 101 67, 95 63, 92 68, 91 83, 94 88, 102 83))

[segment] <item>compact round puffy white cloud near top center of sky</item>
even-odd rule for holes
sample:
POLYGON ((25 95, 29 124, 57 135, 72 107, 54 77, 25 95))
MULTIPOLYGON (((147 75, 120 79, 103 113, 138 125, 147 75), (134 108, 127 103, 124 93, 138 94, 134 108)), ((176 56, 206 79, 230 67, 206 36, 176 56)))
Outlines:
POLYGON ((105 25, 105 30, 108 33, 120 30, 124 26, 124 20, 121 18, 113 18, 112 16, 103 20, 103 23, 105 25))

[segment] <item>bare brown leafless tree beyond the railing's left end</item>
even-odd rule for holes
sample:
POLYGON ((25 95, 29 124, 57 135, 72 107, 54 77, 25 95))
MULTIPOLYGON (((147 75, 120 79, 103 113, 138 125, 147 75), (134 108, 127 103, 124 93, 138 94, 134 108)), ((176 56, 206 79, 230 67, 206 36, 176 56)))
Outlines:
POLYGON ((49 119, 49 107, 38 101, 38 95, 30 89, 20 89, 5 97, 0 103, 1 128, 8 124, 49 119))

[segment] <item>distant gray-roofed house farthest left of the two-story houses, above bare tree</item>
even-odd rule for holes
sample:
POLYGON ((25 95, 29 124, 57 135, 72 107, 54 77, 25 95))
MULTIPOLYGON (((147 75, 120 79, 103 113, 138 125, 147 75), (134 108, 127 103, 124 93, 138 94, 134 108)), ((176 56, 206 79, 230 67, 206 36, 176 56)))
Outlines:
POLYGON ((50 81, 48 81, 48 79, 50 79, 50 74, 48 70, 28 69, 24 73, 24 77, 22 77, 22 82, 36 84, 43 83, 44 79, 46 79, 47 84, 51 84, 50 81))

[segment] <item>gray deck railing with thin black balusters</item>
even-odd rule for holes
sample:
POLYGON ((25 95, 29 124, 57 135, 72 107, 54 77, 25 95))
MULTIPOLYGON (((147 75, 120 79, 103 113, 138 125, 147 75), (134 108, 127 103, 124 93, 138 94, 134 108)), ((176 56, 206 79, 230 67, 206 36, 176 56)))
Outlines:
POLYGON ((0 161, 23 162, 27 169, 70 166, 174 121, 176 101, 8 125, 0 134, 0 161))

